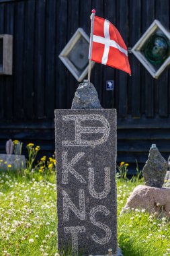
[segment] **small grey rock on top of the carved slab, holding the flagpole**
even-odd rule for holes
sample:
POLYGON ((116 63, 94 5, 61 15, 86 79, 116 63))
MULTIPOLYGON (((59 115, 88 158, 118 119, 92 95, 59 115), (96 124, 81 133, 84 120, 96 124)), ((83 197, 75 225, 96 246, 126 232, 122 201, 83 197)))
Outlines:
POLYGON ((71 109, 102 108, 97 91, 91 83, 81 83, 75 92, 71 109))

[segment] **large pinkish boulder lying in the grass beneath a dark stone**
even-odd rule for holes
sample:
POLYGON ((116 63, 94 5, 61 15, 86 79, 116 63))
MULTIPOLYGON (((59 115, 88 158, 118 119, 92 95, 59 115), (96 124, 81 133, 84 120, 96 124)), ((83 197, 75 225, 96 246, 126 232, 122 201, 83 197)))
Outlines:
POLYGON ((139 185, 128 198, 121 214, 132 208, 145 209, 150 214, 157 212, 159 216, 169 216, 170 189, 139 185))

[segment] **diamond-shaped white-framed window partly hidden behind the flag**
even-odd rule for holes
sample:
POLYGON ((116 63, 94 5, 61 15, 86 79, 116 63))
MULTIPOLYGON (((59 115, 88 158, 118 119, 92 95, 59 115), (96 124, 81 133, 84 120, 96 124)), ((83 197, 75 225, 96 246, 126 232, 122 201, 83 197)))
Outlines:
MULTIPOLYGON (((81 82, 88 73, 89 64, 89 36, 78 28, 71 40, 59 55, 62 63, 71 71, 72 75, 81 82)), ((91 63, 93 67, 94 63, 91 63)))

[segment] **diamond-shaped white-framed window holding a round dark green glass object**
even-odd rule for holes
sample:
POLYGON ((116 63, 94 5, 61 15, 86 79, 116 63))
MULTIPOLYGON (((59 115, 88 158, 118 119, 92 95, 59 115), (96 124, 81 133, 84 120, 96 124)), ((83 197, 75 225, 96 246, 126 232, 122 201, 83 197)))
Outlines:
POLYGON ((155 20, 136 42, 132 53, 154 78, 158 78, 170 63, 170 33, 155 20))

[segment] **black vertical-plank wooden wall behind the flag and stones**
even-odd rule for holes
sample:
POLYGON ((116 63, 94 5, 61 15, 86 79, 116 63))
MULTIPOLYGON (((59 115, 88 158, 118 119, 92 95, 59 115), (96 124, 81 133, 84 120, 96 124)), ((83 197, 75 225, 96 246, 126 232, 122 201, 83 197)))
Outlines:
MULTIPOLYGON (((169 29, 169 0, 0 0, 0 34, 13 35, 13 75, 0 75, 0 152, 5 140, 32 141, 54 152, 54 108, 71 108, 78 82, 58 55, 91 9, 110 20, 128 47, 153 20, 169 29)), ((143 164, 151 143, 170 154, 169 69, 159 79, 129 55, 132 77, 95 64, 91 82, 104 108, 118 110, 118 162, 143 164), (114 79, 114 91, 105 81, 114 79)))

